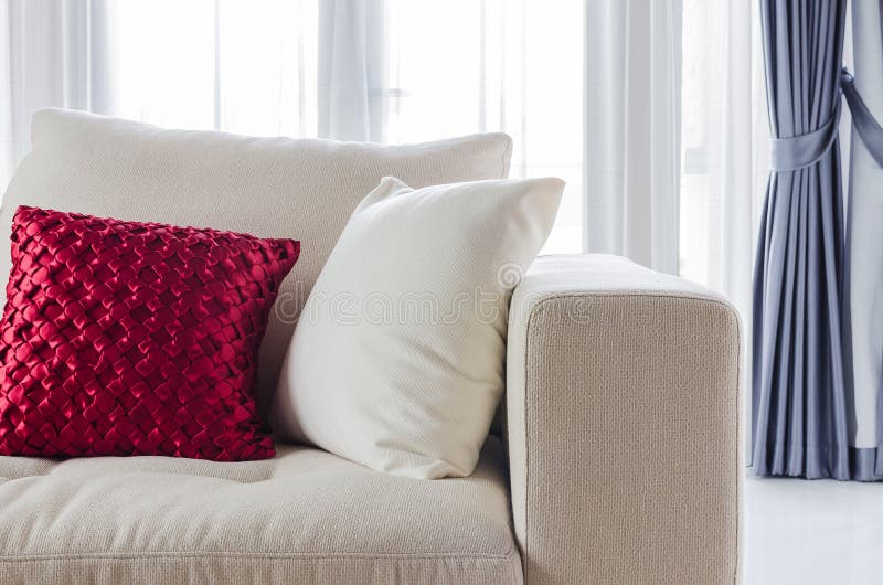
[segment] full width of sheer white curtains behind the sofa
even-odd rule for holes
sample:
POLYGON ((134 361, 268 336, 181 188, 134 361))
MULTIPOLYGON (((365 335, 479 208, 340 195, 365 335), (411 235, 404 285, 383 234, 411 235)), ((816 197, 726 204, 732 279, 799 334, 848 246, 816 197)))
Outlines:
POLYGON ((50 105, 265 136, 506 131, 513 177, 567 181, 544 252, 626 254, 744 310, 767 143, 754 4, 0 0, 0 180, 50 105))

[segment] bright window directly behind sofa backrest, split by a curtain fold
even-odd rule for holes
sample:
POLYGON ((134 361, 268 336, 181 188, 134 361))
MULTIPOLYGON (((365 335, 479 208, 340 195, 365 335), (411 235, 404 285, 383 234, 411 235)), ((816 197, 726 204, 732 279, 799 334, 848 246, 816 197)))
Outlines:
MULTIPOLYGON (((138 0, 110 10, 116 114, 170 127, 317 135, 316 0, 138 0)), ((387 0, 383 22, 384 140, 508 132, 512 177, 567 181, 544 252, 579 252, 582 4, 387 0)))

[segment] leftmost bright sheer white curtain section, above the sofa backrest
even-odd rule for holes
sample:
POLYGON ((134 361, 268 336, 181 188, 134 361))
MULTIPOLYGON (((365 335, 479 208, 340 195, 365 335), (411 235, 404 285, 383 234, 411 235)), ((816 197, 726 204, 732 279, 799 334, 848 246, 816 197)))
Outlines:
POLYGON ((172 128, 318 132, 316 0, 110 2, 114 114, 172 128))

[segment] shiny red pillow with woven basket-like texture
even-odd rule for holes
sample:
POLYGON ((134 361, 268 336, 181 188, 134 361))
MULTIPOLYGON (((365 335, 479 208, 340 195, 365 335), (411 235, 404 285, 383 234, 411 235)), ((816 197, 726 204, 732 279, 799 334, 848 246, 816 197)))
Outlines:
POLYGON ((257 349, 292 240, 20 206, 0 455, 273 457, 257 349))

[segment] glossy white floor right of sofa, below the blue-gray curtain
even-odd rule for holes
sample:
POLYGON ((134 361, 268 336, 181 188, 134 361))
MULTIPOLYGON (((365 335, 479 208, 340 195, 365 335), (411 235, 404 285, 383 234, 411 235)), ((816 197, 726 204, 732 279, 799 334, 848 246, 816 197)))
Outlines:
POLYGON ((883 483, 745 480, 745 585, 883 584, 883 483))

